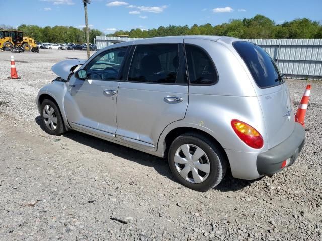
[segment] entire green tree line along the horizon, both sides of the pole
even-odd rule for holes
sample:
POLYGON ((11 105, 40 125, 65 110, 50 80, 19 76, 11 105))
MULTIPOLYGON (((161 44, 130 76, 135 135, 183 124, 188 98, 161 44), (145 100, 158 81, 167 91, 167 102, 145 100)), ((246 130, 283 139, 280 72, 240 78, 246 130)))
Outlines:
MULTIPOLYGON (((8 29, 10 26, 0 25, 0 29, 8 29)), ((36 42, 49 43, 84 43, 85 28, 79 29, 68 26, 46 26, 22 24, 17 28, 24 32, 24 36, 34 38, 36 42)), ((98 29, 90 29, 90 42, 96 36, 104 35, 98 29)), ((131 29, 130 31, 119 30, 107 36, 128 35, 133 38, 150 38, 173 35, 221 35, 241 39, 313 39, 322 38, 322 25, 317 21, 307 18, 295 19, 282 24, 276 24, 273 20, 256 15, 253 18, 232 19, 228 23, 212 26, 211 24, 189 27, 169 25, 160 26, 157 29, 131 29)))

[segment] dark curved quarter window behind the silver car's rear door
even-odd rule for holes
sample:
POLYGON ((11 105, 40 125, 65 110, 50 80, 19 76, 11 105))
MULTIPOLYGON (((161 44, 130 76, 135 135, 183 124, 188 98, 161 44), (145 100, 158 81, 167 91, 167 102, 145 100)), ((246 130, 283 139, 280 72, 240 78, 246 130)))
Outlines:
POLYGON ((194 45, 185 45, 190 84, 210 85, 218 81, 217 71, 209 55, 194 45))

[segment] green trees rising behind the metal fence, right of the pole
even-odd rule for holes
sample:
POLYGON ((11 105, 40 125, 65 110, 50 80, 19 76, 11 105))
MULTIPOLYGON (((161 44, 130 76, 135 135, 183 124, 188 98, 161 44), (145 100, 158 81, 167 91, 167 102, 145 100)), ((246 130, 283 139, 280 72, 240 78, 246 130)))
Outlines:
POLYGON ((253 18, 232 19, 229 23, 212 26, 211 24, 189 27, 169 25, 157 29, 119 30, 108 36, 128 35, 133 38, 149 38, 173 35, 221 35, 240 39, 314 39, 322 38, 322 25, 307 18, 295 19, 283 24, 275 22, 263 15, 253 18))

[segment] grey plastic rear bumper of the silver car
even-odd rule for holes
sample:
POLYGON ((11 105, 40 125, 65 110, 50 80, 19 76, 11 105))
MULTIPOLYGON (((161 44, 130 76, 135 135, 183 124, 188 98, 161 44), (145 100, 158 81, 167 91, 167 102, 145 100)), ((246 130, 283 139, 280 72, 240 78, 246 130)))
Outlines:
POLYGON ((295 123, 292 134, 277 146, 257 156, 256 166, 260 175, 272 175, 282 170, 284 160, 290 158, 288 166, 292 165, 304 146, 305 130, 295 123))

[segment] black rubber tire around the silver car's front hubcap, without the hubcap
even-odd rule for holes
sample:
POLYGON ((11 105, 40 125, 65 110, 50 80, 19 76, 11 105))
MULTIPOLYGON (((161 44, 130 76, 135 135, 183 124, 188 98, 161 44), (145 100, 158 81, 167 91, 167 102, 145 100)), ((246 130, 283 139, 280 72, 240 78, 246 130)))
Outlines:
POLYGON ((41 125, 42 125, 42 128, 45 130, 45 132, 47 132, 50 135, 55 135, 55 136, 60 136, 60 135, 62 135, 62 134, 64 134, 66 132, 65 125, 64 125, 64 121, 63 121, 63 119, 61 117, 59 108, 57 107, 57 105, 53 101, 51 101, 49 99, 45 99, 42 102, 42 104, 41 104, 40 111, 41 111, 40 112, 40 115, 41 115, 41 125), (56 125, 56 129, 55 130, 49 129, 47 127, 47 125, 46 125, 45 118, 43 116, 43 114, 44 114, 44 108, 45 108, 46 105, 49 105, 55 111, 55 117, 57 118, 57 125, 56 125))

